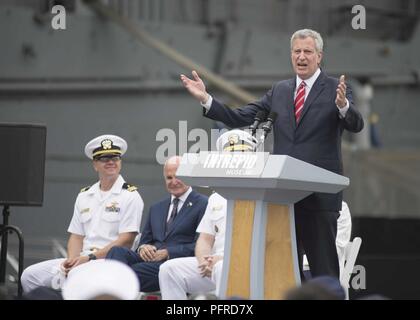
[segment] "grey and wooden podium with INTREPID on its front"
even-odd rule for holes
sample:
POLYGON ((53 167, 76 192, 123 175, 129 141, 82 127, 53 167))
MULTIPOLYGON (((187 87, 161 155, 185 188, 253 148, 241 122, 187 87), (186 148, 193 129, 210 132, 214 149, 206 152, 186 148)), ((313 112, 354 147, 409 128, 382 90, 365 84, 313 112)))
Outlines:
POLYGON ((184 154, 177 176, 228 200, 221 298, 281 299, 300 284, 294 203, 349 179, 268 153, 184 154))

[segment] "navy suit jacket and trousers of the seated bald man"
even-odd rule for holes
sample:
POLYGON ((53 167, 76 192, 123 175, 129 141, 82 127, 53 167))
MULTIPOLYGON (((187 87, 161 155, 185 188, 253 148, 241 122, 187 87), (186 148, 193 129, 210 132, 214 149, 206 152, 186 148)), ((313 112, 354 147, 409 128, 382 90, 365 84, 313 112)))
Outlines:
MULTIPOLYGON (((166 232, 170 201, 171 198, 167 198, 150 207, 140 245, 151 244, 158 250, 167 249, 169 259, 193 256, 198 238, 196 229, 206 210, 207 197, 193 190, 166 232)), ((159 290, 159 268, 166 260, 146 262, 137 252, 124 247, 113 247, 106 258, 128 264, 139 278, 141 291, 159 290)))

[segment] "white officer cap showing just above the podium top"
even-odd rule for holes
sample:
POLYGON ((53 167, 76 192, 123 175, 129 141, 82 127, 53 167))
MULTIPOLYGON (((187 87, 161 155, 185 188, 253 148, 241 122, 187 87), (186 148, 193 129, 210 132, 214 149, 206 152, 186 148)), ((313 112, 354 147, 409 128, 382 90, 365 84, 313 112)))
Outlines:
POLYGON ((223 133, 216 141, 218 151, 253 152, 257 146, 257 139, 249 132, 234 129, 223 133))

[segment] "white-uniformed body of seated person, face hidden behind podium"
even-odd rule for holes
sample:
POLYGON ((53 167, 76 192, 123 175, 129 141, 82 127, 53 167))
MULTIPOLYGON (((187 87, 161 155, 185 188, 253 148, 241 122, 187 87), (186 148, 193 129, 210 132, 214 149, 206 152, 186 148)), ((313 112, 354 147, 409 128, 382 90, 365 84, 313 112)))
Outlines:
POLYGON ((200 233, 195 257, 166 261, 159 270, 159 286, 164 300, 187 299, 187 293, 203 293, 220 288, 225 242, 225 198, 213 193, 197 227, 200 233))

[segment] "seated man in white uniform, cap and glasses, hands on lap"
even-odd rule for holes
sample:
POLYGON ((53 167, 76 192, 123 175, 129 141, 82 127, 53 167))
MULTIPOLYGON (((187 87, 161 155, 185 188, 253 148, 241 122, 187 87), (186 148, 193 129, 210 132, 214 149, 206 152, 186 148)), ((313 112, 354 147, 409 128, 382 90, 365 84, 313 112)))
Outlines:
POLYGON ((114 246, 130 248, 139 231, 143 200, 137 188, 120 175, 124 139, 99 136, 85 146, 99 181, 77 196, 68 232, 67 259, 53 259, 26 268, 21 277, 25 293, 37 287, 61 289, 66 276, 91 260, 105 258, 114 246))

